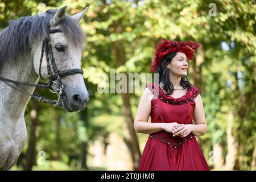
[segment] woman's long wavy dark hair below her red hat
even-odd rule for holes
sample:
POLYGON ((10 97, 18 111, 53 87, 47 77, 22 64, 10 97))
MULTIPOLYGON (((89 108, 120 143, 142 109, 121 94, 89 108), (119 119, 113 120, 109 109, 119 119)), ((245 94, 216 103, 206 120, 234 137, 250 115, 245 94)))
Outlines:
MULTIPOLYGON (((163 89, 167 92, 168 95, 171 95, 174 92, 174 85, 169 80, 169 69, 166 67, 168 63, 171 63, 172 58, 177 55, 177 52, 172 52, 163 58, 161 64, 158 66, 157 72, 159 73, 159 83, 163 83, 163 89)), ((186 76, 181 77, 180 85, 185 88, 190 88, 192 84, 188 81, 186 76)))

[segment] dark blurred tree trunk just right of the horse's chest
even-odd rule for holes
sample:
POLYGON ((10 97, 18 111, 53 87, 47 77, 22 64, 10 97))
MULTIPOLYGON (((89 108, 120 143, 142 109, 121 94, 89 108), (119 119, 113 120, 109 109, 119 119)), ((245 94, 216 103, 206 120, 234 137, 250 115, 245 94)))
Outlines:
POLYGON ((32 100, 33 103, 33 109, 30 111, 31 116, 31 125, 30 125, 30 138, 28 142, 28 148, 27 148, 27 154, 26 154, 26 164, 24 167, 24 170, 31 171, 33 164, 35 163, 36 159, 36 126, 38 125, 38 118, 39 118, 39 111, 40 111, 40 105, 38 101, 32 100))

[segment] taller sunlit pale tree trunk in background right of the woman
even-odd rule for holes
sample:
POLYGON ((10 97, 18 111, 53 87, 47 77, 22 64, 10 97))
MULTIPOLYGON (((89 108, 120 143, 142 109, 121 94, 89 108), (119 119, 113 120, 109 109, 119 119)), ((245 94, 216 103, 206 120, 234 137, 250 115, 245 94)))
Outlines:
POLYGON ((228 146, 228 154, 226 155, 226 170, 233 170, 236 164, 237 148, 238 143, 232 135, 232 126, 233 126, 233 111, 229 111, 228 117, 228 129, 226 131, 226 142, 228 146))

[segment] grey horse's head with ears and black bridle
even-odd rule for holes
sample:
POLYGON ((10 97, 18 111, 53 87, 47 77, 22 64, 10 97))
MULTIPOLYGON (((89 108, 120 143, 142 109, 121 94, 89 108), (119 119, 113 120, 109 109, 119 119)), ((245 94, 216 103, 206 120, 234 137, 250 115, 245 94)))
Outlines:
POLYGON ((34 42, 32 57, 36 76, 48 80, 59 96, 59 105, 72 112, 84 109, 89 100, 80 64, 85 34, 79 22, 86 9, 69 16, 66 8, 42 15, 47 22, 43 27, 46 36, 34 42))

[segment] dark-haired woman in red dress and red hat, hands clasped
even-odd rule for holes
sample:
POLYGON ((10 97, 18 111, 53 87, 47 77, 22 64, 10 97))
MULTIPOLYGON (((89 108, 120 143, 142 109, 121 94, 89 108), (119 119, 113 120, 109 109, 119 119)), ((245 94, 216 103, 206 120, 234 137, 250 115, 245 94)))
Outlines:
POLYGON ((150 134, 138 170, 209 170, 196 140, 207 132, 201 91, 185 80, 199 46, 163 39, 156 48, 151 72, 160 84, 144 90, 134 122, 137 133, 150 134))

